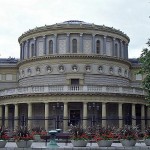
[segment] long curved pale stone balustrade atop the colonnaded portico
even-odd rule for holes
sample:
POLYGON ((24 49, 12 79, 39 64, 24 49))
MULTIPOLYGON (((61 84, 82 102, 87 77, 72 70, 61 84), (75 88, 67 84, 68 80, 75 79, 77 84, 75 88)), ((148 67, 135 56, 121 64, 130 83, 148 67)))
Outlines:
POLYGON ((19 95, 30 93, 53 93, 53 92, 98 92, 98 93, 119 93, 119 94, 136 94, 144 95, 145 91, 140 88, 133 87, 118 87, 118 86, 59 86, 59 85, 47 85, 47 86, 29 86, 10 88, 0 90, 0 96, 7 95, 19 95))

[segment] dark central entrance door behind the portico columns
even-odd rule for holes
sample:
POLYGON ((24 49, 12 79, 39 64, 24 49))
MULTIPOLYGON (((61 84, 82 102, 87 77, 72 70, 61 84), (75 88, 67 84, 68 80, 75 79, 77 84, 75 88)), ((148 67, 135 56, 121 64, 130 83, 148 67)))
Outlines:
POLYGON ((80 110, 70 110, 70 124, 78 125, 80 122, 80 110))

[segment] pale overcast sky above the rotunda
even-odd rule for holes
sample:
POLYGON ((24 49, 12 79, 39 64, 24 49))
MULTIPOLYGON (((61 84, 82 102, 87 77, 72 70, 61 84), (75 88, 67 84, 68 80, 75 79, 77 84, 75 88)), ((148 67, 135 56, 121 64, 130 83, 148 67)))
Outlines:
POLYGON ((0 58, 19 58, 18 37, 29 29, 81 20, 120 29, 137 58, 150 38, 150 0, 0 0, 0 58))

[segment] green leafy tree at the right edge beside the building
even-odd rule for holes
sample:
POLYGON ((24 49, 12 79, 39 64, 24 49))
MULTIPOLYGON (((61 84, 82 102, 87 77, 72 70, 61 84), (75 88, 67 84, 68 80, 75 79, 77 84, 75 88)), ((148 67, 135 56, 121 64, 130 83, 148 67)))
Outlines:
POLYGON ((141 69, 139 70, 139 74, 144 75, 144 79, 142 81, 143 89, 147 92, 146 100, 150 106, 150 39, 146 43, 148 48, 144 48, 142 54, 139 58, 141 63, 141 69))

